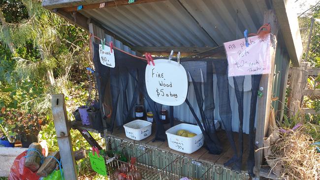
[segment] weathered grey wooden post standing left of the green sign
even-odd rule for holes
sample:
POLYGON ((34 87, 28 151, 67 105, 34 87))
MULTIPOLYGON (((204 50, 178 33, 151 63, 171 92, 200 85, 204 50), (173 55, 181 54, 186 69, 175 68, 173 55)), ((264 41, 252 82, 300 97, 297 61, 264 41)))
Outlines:
POLYGON ((78 180, 78 174, 70 137, 71 124, 66 116, 64 94, 52 94, 51 108, 53 120, 55 123, 61 161, 64 167, 64 179, 78 180))

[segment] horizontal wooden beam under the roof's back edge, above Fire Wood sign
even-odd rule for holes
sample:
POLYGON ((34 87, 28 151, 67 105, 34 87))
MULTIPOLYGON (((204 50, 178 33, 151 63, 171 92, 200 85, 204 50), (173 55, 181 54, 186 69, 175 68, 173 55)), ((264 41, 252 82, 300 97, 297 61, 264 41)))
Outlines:
POLYGON ((217 57, 219 59, 225 58, 225 51, 222 47, 174 47, 174 46, 161 46, 161 47, 143 47, 133 46, 132 50, 138 51, 142 54, 150 53, 157 56, 169 56, 171 50, 180 52, 182 56, 194 55, 205 51, 211 51, 210 57, 217 57))

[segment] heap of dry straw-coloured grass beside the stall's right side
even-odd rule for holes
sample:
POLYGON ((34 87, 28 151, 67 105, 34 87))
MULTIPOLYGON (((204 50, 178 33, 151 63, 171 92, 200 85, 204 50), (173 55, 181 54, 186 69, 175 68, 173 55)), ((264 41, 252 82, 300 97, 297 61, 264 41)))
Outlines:
POLYGON ((279 177, 288 180, 320 180, 320 154, 312 137, 305 133, 305 127, 281 133, 280 139, 271 145, 268 163, 279 177))

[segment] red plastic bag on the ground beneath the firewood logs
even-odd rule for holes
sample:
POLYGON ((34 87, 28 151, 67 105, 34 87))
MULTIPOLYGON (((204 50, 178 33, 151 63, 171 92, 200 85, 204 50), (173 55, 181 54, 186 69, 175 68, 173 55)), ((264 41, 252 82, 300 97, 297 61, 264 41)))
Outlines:
POLYGON ((36 172, 32 172, 30 169, 24 166, 25 157, 27 151, 19 154, 13 161, 10 169, 8 180, 39 180, 40 177, 36 175, 36 172))

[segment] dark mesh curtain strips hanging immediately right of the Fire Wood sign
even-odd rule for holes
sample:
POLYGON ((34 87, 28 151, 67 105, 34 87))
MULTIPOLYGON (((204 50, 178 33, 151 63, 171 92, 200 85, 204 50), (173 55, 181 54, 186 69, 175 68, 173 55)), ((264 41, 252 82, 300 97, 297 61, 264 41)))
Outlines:
POLYGON ((203 133, 207 149, 212 154, 220 154, 222 152, 222 146, 218 139, 214 123, 215 104, 213 96, 212 60, 186 61, 181 64, 191 77, 200 117, 196 115, 193 109, 194 107, 192 107, 188 98, 186 99, 186 103, 203 133), (202 88, 202 84, 204 88, 202 88), (203 99, 202 91, 204 91, 205 100, 203 99), (203 105, 205 105, 205 109, 203 109, 203 105))

